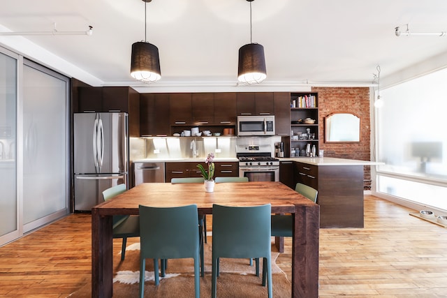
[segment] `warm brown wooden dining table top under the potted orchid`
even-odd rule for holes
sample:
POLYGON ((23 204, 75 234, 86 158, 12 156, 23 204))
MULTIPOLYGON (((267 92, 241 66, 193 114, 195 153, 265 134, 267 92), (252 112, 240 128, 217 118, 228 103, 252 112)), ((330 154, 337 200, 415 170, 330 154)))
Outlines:
POLYGON ((102 215, 138 214, 138 205, 175 207, 197 204, 201 213, 211 214, 213 204, 254 206, 272 204, 272 213, 295 211, 296 204, 314 202, 281 182, 221 183, 214 193, 206 193, 203 184, 146 183, 131 188, 94 207, 102 215))

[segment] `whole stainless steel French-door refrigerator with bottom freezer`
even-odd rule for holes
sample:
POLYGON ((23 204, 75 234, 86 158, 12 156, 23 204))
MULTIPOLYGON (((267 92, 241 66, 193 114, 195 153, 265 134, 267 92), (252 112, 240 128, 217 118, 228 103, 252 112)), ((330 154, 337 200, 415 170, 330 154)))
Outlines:
POLYGON ((129 140, 124 112, 74 114, 75 211, 90 211, 103 202, 102 192, 128 186, 129 140))

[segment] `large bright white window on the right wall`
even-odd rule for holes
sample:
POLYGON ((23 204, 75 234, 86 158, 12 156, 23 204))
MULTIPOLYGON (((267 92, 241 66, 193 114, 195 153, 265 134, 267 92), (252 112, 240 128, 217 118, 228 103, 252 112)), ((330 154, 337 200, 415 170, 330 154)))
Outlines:
POLYGON ((381 90, 378 191, 447 210, 447 69, 381 90))

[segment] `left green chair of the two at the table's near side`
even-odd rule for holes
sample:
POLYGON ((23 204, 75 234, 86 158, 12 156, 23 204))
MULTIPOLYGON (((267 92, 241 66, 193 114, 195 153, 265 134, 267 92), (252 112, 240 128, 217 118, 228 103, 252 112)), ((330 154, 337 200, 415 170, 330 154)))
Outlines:
MULTIPOLYGON (((146 259, 154 259, 155 285, 159 285, 157 260, 193 258, 194 288, 200 297, 200 232, 197 205, 157 208, 139 206, 140 210, 140 297, 145 292, 146 259)), ((163 261, 162 261, 163 263, 163 261)), ((202 263, 203 264, 203 263, 202 263)))

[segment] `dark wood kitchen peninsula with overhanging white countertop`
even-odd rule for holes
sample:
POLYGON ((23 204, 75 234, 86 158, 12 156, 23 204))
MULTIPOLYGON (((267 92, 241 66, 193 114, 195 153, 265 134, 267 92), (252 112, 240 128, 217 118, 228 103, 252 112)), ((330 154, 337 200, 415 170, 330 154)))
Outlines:
POLYGON ((345 158, 281 158, 295 164, 295 181, 318 190, 320 228, 363 228, 363 167, 345 158))

